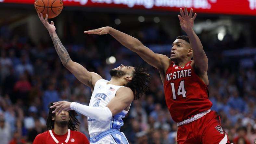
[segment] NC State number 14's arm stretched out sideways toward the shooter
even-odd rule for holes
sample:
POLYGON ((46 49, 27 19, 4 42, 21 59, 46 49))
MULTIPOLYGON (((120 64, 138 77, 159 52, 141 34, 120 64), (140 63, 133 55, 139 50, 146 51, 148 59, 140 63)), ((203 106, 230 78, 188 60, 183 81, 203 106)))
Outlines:
POLYGON ((87 34, 110 34, 122 45, 130 49, 131 51, 139 54, 139 56, 145 60, 149 65, 158 69, 163 68, 163 63, 168 61, 168 57, 162 54, 155 54, 152 50, 143 45, 138 39, 125 34, 121 31, 115 30, 111 27, 103 27, 96 30, 84 31, 87 34))

